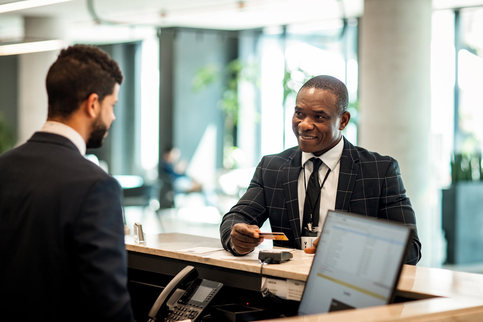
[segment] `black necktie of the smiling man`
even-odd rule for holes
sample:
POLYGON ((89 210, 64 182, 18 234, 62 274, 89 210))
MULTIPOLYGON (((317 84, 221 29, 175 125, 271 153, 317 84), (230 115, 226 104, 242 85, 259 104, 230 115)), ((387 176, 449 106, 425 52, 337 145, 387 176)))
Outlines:
MULTIPOLYGON (((307 182, 307 190, 305 191, 305 201, 303 205, 302 231, 304 227, 308 227, 312 223, 313 227, 319 225, 320 212, 320 182, 319 168, 322 165, 320 158, 311 158, 313 161, 313 171, 307 182), (312 218, 311 218, 312 217, 312 218)), ((304 170, 305 171, 305 170, 304 170)))

